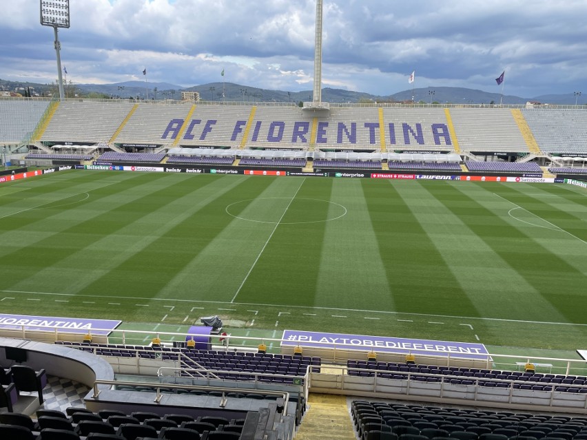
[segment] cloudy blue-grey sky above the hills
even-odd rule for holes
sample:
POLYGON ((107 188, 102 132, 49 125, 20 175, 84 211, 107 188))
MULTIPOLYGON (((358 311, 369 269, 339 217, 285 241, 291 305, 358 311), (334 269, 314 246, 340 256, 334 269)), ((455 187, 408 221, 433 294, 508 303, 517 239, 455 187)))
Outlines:
MULTIPOLYGON (((39 0, 1 6, 0 78, 56 81, 39 0)), ((316 0, 70 0, 70 23, 59 40, 73 83, 144 81, 146 69, 147 81, 182 87, 313 87, 316 0)), ((586 79, 586 0, 324 0, 322 87, 531 98, 587 96, 586 79)))

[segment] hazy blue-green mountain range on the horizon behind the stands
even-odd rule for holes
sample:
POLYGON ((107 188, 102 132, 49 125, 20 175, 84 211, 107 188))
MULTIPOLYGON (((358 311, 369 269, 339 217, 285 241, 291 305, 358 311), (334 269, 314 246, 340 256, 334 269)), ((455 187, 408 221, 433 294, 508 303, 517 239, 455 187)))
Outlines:
MULTIPOLYGON (((34 87, 34 90, 49 90, 50 85, 35 83, 18 83, 0 79, 0 87, 5 90, 14 90, 17 87, 34 87)), ((311 101, 312 91, 287 92, 284 90, 267 90, 249 87, 235 83, 208 83, 182 87, 170 83, 145 83, 143 81, 126 81, 112 84, 75 84, 74 87, 83 93, 102 94, 114 98, 141 98, 149 99, 181 99, 181 92, 199 92, 204 101, 249 101, 249 102, 294 102, 311 101)), ((570 94, 549 94, 542 96, 501 96, 498 93, 484 92, 483 90, 466 89, 464 87, 426 87, 413 90, 403 90, 387 96, 372 95, 365 92, 351 92, 349 90, 322 89, 322 101, 328 103, 367 103, 367 102, 402 102, 415 101, 424 103, 452 103, 452 104, 525 104, 528 101, 558 105, 587 105, 586 97, 570 94)))

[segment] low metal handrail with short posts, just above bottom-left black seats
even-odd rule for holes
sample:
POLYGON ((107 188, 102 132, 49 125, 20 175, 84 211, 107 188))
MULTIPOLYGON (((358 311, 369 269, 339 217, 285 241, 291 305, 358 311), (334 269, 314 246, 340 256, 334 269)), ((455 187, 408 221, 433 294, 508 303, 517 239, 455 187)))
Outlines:
MULTIPOLYGON (((227 392, 243 392, 242 388, 230 388, 230 387, 218 387, 218 386, 200 386, 200 385, 176 385, 176 384, 161 384, 161 383, 148 383, 148 382, 136 382, 136 381, 116 381, 116 380, 96 380, 94 381, 94 386, 92 386, 94 390, 94 394, 92 395, 93 399, 96 399, 101 390, 99 390, 99 385, 110 385, 110 386, 141 386, 141 387, 150 387, 155 390, 155 399, 154 402, 159 403, 161 401, 161 397, 163 394, 161 392, 161 388, 165 388, 168 390, 196 390, 196 391, 218 391, 222 392, 222 399, 220 401, 220 406, 225 407, 227 402, 226 393, 227 392)), ((287 410, 287 404, 289 404, 289 392, 287 391, 273 391, 273 390, 247 390, 247 394, 255 394, 255 395, 263 395, 269 396, 274 395, 276 397, 281 397, 284 402, 284 411, 287 410)))

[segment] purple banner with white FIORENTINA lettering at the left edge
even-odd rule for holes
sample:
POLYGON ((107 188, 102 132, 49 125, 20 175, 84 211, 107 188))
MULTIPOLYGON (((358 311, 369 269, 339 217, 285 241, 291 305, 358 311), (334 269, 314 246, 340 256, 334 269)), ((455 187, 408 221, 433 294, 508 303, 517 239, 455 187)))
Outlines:
POLYGON ((0 313, 0 329, 20 330, 22 326, 28 331, 63 331, 67 333, 92 332, 92 335, 109 335, 122 321, 112 319, 87 319, 70 317, 47 317, 29 315, 8 315, 0 313), (95 330, 100 328, 101 330, 95 330))

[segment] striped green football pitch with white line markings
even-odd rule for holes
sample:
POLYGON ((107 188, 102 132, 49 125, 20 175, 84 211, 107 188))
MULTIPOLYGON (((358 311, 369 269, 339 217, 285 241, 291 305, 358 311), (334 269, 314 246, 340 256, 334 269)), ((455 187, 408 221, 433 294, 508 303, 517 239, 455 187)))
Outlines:
POLYGON ((586 348, 570 185, 63 171, 0 234, 2 313, 586 348))

